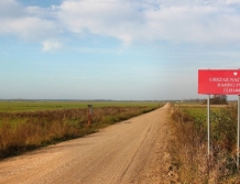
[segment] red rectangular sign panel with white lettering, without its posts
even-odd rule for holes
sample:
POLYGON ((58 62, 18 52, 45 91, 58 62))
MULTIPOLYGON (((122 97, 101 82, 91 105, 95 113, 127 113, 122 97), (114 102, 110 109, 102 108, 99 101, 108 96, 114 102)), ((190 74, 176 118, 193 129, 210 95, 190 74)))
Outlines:
POLYGON ((199 69, 198 94, 240 95, 240 69, 199 69))

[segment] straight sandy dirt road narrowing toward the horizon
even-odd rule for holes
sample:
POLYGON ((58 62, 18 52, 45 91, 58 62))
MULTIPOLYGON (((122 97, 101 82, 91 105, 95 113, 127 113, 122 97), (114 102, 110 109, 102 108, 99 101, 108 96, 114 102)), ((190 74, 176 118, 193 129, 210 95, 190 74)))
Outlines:
POLYGON ((165 105, 100 132, 0 162, 1 184, 168 183, 165 105))

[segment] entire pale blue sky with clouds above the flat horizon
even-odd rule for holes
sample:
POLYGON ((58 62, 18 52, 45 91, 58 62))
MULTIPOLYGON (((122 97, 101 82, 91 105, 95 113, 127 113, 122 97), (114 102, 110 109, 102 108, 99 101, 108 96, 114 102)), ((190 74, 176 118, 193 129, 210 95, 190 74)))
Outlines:
POLYGON ((0 99, 205 98, 239 31, 240 0, 0 0, 0 99))

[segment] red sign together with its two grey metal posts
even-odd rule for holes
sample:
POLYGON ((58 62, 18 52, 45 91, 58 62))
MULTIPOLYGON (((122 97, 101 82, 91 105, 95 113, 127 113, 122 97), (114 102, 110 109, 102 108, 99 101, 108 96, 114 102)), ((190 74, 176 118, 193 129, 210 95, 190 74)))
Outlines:
POLYGON ((237 167, 239 169, 240 144, 240 71, 239 69, 198 69, 198 94, 208 95, 208 156, 210 154, 210 94, 238 95, 238 138, 237 167))

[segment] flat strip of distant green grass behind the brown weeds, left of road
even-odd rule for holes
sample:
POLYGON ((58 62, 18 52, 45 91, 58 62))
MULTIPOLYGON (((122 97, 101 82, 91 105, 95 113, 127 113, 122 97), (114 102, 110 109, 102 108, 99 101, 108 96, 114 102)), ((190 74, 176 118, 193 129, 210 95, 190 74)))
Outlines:
POLYGON ((97 107, 157 107, 160 102, 152 101, 0 101, 0 112, 23 112, 57 109, 87 108, 91 104, 97 107))

